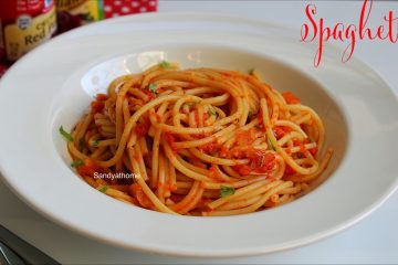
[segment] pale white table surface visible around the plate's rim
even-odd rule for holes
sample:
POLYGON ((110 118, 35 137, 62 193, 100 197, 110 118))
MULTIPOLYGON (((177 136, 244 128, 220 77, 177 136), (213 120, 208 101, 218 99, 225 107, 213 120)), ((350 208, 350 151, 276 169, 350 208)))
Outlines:
MULTIPOLYGON (((306 1, 171 1, 160 0, 159 12, 202 11, 251 17, 284 23, 297 30, 304 21, 306 1)), ((362 1, 315 1, 317 14, 328 24, 357 23, 362 1)), ((375 1, 368 26, 376 28, 398 2, 375 1)), ((345 43, 346 45, 347 43, 345 43)), ((398 44, 359 41, 355 54, 371 65, 398 94, 398 44)), ((377 177, 377 176, 375 176, 377 177)), ((0 182, 0 223, 61 263, 91 264, 325 264, 398 263, 398 193, 370 216, 337 234, 308 246, 281 253, 242 258, 203 259, 148 255, 107 245, 54 224, 21 202, 0 182)))

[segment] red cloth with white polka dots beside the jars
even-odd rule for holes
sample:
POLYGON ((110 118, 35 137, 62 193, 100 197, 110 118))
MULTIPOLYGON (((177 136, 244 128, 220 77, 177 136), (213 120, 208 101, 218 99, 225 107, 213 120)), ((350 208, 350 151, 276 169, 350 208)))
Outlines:
POLYGON ((104 0, 105 19, 125 14, 154 12, 157 10, 157 0, 104 0))

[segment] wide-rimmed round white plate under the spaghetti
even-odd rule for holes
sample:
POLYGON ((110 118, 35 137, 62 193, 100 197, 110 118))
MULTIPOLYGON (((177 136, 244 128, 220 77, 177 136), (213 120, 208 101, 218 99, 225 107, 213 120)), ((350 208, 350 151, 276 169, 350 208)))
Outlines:
POLYGON ((0 83, 0 170, 36 211, 88 236, 185 256, 241 256, 300 246, 356 223, 397 187, 397 98, 356 59, 327 46, 320 68, 297 32, 224 15, 146 14, 63 34, 21 59, 0 83), (70 129, 93 95, 123 73, 163 59, 182 67, 255 67, 326 124, 335 156, 316 190, 292 203, 227 218, 174 216, 113 200, 69 167, 57 128, 70 129))

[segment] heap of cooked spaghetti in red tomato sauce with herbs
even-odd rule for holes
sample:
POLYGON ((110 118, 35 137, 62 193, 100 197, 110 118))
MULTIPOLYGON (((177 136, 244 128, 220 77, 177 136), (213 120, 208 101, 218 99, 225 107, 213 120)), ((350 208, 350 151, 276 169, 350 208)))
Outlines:
POLYGON ((92 187, 137 206, 234 215, 277 206, 318 182, 324 126, 293 93, 252 71, 179 70, 161 62, 113 81, 69 140, 92 187), (105 179, 98 174, 134 173, 105 179))

